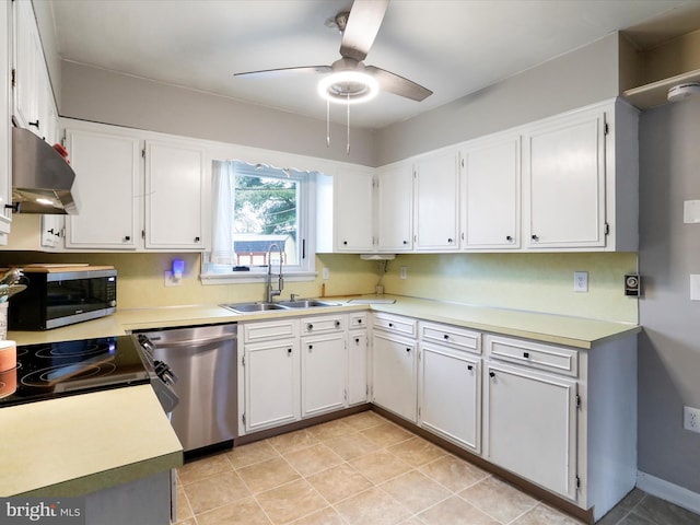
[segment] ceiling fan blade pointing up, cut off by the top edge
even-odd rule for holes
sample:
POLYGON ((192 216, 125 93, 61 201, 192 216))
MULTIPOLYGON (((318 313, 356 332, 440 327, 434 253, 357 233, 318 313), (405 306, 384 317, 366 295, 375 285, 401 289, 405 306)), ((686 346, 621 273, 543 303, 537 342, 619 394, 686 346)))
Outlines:
POLYGON ((389 0, 354 0, 342 32, 340 56, 364 60, 380 31, 389 0))

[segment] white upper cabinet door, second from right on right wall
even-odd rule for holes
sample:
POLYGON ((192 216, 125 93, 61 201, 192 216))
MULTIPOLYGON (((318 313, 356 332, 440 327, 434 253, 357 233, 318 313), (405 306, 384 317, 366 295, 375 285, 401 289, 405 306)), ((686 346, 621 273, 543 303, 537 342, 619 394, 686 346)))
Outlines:
POLYGON ((477 141, 463 152, 466 249, 520 247, 521 140, 477 141))

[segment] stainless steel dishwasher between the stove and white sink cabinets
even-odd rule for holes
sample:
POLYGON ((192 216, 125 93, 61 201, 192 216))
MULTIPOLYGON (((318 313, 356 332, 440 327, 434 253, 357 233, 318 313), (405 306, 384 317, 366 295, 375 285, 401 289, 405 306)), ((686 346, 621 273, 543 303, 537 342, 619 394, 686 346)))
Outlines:
POLYGON ((186 456, 230 447, 237 436, 236 331, 235 323, 137 331, 178 378, 171 422, 186 456))

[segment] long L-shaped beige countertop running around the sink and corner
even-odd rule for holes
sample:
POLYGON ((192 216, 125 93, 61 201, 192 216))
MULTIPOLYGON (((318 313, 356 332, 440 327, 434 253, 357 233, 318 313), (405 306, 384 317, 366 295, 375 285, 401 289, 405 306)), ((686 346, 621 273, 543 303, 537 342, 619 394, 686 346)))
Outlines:
MULTIPOLYGON (((355 298, 357 299, 357 298, 355 298)), ((372 299, 371 295, 363 299, 372 299)), ((378 299, 378 298, 377 298, 378 299)), ((394 304, 353 304, 347 298, 326 299, 338 306, 306 311, 272 311, 236 314, 218 305, 167 306, 119 310, 102 319, 45 331, 10 331, 8 339, 18 345, 118 336, 131 330, 217 323, 307 316, 323 313, 372 310, 424 320, 446 323, 481 331, 535 339, 542 342, 590 349, 607 339, 640 331, 638 325, 565 315, 541 314, 505 308, 448 303, 425 299, 384 295, 394 304)))

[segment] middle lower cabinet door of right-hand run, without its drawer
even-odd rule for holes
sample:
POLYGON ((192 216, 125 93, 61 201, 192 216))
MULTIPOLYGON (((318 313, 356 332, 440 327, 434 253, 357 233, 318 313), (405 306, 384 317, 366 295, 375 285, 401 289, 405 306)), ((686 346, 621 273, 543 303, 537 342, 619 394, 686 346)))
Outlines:
POLYGON ((419 424, 479 453, 480 359, 421 343, 419 424))

